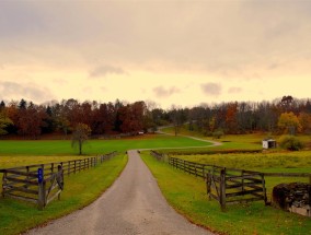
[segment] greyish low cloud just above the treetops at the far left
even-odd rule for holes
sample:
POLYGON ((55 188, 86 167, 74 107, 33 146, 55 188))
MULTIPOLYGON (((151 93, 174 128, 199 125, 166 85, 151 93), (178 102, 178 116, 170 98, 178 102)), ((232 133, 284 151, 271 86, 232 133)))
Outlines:
POLYGON ((34 83, 0 82, 0 94, 2 99, 25 98, 39 104, 55 98, 47 87, 37 86, 34 83))

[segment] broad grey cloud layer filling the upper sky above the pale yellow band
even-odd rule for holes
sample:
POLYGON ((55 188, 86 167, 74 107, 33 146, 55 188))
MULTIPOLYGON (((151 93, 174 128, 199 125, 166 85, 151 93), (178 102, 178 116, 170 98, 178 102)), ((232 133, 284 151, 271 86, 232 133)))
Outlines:
MULTIPOLYGON (((306 61, 310 9, 311 1, 0 1, 1 58, 22 60, 10 51, 19 46, 42 63, 80 67, 81 58, 90 68, 108 59, 139 70, 234 78, 266 69, 274 57, 306 61)), ((122 72, 97 68, 90 75, 122 72)))

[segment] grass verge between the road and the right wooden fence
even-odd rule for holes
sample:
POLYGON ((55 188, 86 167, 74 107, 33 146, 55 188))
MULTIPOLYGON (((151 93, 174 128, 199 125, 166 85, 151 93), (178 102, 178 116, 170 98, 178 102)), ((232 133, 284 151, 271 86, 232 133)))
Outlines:
POLYGON ((229 205, 221 212, 218 202, 209 201, 205 183, 158 162, 147 153, 143 161, 168 202, 192 222, 226 234, 292 234, 311 233, 311 220, 297 214, 265 207, 263 202, 229 205))

